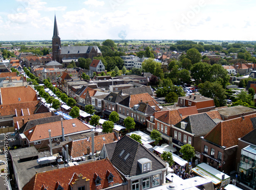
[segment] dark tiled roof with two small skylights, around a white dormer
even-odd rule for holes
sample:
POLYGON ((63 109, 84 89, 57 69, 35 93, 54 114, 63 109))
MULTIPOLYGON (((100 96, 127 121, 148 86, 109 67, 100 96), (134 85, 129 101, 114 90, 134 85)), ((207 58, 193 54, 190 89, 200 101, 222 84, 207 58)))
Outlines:
MULTIPOLYGON (((109 155, 110 152, 108 152, 109 155)), ((110 153, 111 154, 111 153, 110 153)), ((129 136, 124 136, 117 141, 113 156, 110 159, 111 163, 125 176, 135 176, 141 174, 138 160, 147 158, 152 161, 152 171, 165 168, 165 161, 157 157, 154 153, 147 150, 143 145, 129 136), (124 153, 120 153, 124 150, 124 153), (126 160, 125 156, 130 154, 126 160)))

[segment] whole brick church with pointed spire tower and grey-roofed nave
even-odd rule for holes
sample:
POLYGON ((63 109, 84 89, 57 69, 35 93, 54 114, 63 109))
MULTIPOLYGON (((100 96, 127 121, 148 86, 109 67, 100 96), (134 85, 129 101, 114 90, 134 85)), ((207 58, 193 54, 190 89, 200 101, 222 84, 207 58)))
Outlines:
POLYGON ((56 16, 54 17, 54 29, 52 37, 52 59, 62 63, 64 67, 73 60, 76 63, 78 58, 91 58, 101 56, 97 45, 94 46, 62 46, 60 42, 56 16))

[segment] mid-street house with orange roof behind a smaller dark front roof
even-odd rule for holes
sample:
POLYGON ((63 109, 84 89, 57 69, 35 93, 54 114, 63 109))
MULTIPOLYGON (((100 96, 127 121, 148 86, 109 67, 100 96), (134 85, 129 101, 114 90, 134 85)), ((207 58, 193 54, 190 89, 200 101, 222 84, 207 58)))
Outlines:
POLYGON ((120 123, 123 124, 125 118, 130 116, 137 124, 145 125, 154 112, 161 111, 158 105, 148 93, 131 94, 117 104, 120 123))

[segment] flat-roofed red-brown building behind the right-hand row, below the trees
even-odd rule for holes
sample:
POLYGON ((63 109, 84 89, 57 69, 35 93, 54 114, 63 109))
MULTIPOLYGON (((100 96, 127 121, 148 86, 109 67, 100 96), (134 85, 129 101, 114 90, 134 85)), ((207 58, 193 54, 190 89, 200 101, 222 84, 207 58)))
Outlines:
POLYGON ((189 95, 187 97, 179 97, 175 106, 190 107, 196 106, 198 113, 206 112, 215 109, 214 99, 207 98, 201 95, 189 95))

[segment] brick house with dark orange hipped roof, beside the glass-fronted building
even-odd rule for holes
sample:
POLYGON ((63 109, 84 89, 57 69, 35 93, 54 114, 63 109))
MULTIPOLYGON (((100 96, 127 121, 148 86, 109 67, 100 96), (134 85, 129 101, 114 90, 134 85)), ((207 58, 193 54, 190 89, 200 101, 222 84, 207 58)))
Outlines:
POLYGON ((201 137, 201 162, 231 172, 237 169, 238 139, 256 128, 256 113, 220 122, 201 137))

